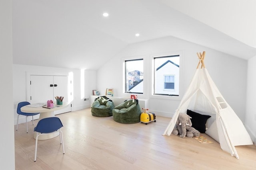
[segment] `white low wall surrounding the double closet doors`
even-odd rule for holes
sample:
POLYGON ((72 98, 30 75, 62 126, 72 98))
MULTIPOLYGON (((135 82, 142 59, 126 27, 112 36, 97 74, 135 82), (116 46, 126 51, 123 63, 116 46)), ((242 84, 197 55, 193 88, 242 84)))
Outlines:
MULTIPOLYGON (((17 106, 19 102, 26 101, 27 99, 26 72, 67 75, 70 75, 71 73, 71 75, 73 75, 72 111, 90 107, 90 101, 84 101, 84 98, 90 98, 90 95, 92 95, 92 90, 96 88, 96 71, 13 64, 14 105, 12 107, 14 108, 13 112, 15 124, 18 114, 16 113, 17 108, 14 106, 17 106)), ((28 120, 32 120, 32 117, 28 117, 28 120)), ((25 116, 20 116, 19 123, 24 122, 26 122, 25 116)))

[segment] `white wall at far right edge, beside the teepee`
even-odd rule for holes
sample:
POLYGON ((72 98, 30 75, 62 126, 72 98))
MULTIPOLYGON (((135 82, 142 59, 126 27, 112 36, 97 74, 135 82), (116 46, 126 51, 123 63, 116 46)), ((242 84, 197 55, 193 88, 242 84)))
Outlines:
POLYGON ((256 56, 248 60, 245 126, 256 145, 256 56))

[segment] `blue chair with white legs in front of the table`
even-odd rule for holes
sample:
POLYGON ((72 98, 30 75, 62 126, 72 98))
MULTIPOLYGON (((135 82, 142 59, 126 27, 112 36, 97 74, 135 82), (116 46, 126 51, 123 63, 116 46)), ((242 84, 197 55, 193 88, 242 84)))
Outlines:
POLYGON ((58 117, 46 117, 44 119, 41 119, 36 127, 34 128, 34 131, 36 132, 36 149, 35 149, 35 158, 34 162, 36 162, 36 152, 37 152, 37 142, 38 142, 38 136, 40 135, 49 135, 52 133, 59 132, 60 133, 60 144, 62 144, 62 151, 63 154, 64 151, 64 143, 63 143, 63 135, 62 131, 60 131, 60 128, 63 127, 60 118, 58 117))

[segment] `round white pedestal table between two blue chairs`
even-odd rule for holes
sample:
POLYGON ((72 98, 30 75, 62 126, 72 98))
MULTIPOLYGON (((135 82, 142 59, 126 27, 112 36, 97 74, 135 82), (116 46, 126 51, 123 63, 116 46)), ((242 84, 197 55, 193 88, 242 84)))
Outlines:
MULTIPOLYGON (((25 112, 25 113, 40 113, 39 120, 38 120, 38 121, 40 121, 41 119, 44 119, 46 117, 55 117, 55 115, 54 115, 55 110, 64 109, 64 108, 68 107, 68 105, 69 105, 68 102, 63 102, 62 105, 57 105, 59 107, 55 107, 55 108, 52 108, 52 109, 47 109, 47 108, 44 108, 44 107, 28 107, 29 105, 27 105, 27 106, 21 107, 20 110, 25 112)), ((54 106, 56 106, 56 104, 54 104, 54 106)), ((56 133, 53 133, 53 134, 50 134, 50 135, 40 135, 38 137, 38 140, 51 139, 51 138, 54 138, 58 135, 60 135, 59 132, 56 132, 56 133)), ((34 139, 36 139, 36 132, 34 132, 34 139)))

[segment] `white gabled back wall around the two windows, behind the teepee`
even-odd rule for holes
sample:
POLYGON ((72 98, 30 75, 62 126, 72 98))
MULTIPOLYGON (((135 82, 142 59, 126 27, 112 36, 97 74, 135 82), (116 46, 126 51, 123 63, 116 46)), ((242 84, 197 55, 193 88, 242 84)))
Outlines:
POLYGON ((196 53, 203 51, 206 51, 205 65, 213 81, 238 117, 244 121, 247 62, 175 37, 132 44, 120 51, 109 63, 98 70, 98 90, 104 93, 106 88, 114 88, 114 96, 129 97, 130 94, 123 93, 122 61, 142 57, 145 62, 144 94, 138 94, 138 99, 149 99, 149 109, 157 115, 172 117, 196 70, 198 64, 196 53), (180 54, 182 59, 180 97, 152 96, 152 57, 177 54, 180 54))

